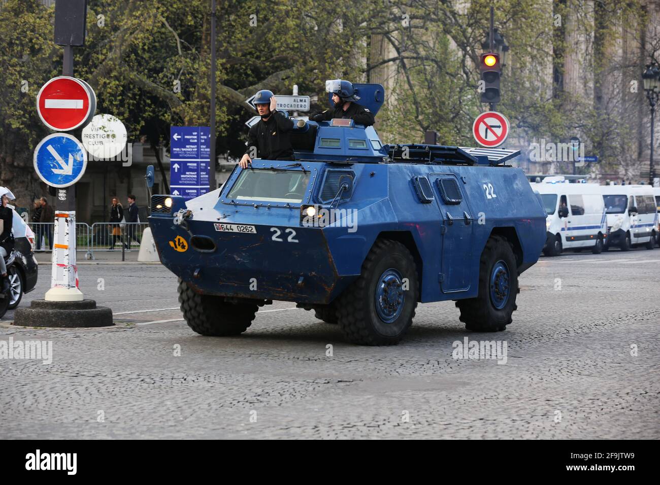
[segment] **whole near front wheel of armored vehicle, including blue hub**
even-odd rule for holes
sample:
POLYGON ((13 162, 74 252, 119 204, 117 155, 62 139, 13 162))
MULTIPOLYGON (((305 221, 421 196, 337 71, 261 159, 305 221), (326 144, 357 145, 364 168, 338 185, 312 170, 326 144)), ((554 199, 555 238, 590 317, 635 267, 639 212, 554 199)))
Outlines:
POLYGON ((348 342, 392 345, 413 323, 417 269, 405 245, 377 240, 362 273, 337 299, 337 320, 348 342))

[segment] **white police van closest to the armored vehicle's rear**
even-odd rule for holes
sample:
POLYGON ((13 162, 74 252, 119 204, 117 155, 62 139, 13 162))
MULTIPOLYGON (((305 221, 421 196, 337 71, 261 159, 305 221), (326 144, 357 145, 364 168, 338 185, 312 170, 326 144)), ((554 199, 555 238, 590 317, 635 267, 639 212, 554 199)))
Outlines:
POLYGON ((591 249, 599 254, 605 247, 607 225, 601 186, 568 183, 562 176, 531 183, 545 207, 546 243, 543 253, 558 256, 564 249, 591 249))

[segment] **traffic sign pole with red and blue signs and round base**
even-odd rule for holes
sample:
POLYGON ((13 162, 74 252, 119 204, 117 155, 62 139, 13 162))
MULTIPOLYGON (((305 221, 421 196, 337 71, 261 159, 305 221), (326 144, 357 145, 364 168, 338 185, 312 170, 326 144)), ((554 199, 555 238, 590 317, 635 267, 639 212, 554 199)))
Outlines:
MULTIPOLYGON (((62 75, 66 79, 63 81, 51 79, 44 84, 37 98, 37 109, 42 121, 55 131, 72 131, 82 127, 94 115, 96 97, 92 88, 86 82, 73 78, 71 44, 74 46, 84 44, 86 4, 86 0, 55 3, 55 44, 64 48, 62 75), (61 92, 54 89, 46 92, 46 86, 54 82, 62 82, 65 88, 73 86, 73 89, 71 92, 67 89, 61 92), (70 94, 75 96, 69 96, 70 94), (59 115, 58 110, 62 112, 59 115), (82 119, 77 118, 81 111, 84 111, 82 119)), ((42 140, 34 152, 34 166, 37 173, 48 185, 55 187, 57 195, 51 288, 46 292, 44 300, 32 300, 30 307, 16 309, 14 314, 16 325, 26 327, 113 325, 112 310, 108 307, 97 307, 94 300, 84 300, 82 292, 78 289, 75 183, 84 174, 86 161, 84 147, 69 133, 49 135, 42 140)))

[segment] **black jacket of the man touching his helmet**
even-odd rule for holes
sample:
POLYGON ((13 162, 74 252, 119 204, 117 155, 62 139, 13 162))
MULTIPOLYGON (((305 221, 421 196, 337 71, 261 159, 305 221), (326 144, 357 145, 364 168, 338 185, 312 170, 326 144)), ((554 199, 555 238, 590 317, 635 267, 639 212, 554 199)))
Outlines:
POLYGON ((292 129, 292 119, 277 111, 268 121, 260 119, 249 129, 246 153, 252 156, 251 147, 256 146, 258 157, 264 160, 293 160, 292 129))

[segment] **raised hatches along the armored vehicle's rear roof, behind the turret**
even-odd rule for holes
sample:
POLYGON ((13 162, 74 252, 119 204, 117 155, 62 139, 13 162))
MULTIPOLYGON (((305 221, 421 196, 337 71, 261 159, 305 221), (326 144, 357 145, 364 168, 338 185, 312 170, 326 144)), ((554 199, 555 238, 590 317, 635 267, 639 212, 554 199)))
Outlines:
POLYGON ((395 162, 495 166, 515 158, 520 150, 469 148, 444 145, 390 145, 389 157, 395 162))

